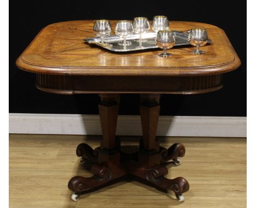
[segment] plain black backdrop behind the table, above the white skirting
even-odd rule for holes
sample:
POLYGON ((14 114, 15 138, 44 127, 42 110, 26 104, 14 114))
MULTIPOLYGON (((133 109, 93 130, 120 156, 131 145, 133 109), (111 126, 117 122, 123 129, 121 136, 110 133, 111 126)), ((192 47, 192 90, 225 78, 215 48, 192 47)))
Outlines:
MULTIPOLYGON (((246 1, 13 1, 10 2, 9 112, 98 114, 97 95, 55 95, 34 87, 35 75, 15 60, 39 30, 51 23, 132 20, 166 15, 169 20, 205 22, 226 32, 242 65, 224 75, 224 88, 201 95, 163 95, 161 115, 246 116, 246 1), (243 39, 243 40, 242 40, 243 39)), ((138 95, 122 95, 120 114, 138 114, 138 95)))

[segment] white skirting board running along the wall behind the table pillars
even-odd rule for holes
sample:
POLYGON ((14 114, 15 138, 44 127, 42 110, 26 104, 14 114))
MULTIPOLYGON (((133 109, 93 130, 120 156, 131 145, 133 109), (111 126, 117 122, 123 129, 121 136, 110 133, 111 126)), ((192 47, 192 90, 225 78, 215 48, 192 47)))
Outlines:
MULTIPOLYGON (((117 135, 139 136, 138 115, 119 115, 117 135)), ((9 133, 100 135, 98 115, 9 114, 9 133)), ((246 117, 160 116, 157 136, 246 137, 246 117)))

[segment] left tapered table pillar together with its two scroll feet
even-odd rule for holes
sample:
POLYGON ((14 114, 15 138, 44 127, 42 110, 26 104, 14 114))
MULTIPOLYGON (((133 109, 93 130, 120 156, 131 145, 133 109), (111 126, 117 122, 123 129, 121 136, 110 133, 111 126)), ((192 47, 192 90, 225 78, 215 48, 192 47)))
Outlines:
POLYGON ((104 185, 105 183, 126 175, 126 169, 120 166, 120 141, 115 138, 119 111, 118 94, 100 94, 98 105, 102 127, 100 147, 93 150, 88 144, 79 144, 77 156, 94 174, 91 178, 74 176, 68 182, 68 188, 74 192, 73 200, 78 200, 84 191, 104 185))

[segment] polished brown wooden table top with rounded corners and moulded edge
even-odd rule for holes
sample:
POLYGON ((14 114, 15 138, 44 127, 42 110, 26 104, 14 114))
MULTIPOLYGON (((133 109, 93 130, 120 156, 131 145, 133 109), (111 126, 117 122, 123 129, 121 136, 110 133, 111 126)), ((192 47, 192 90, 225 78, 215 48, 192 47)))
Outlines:
MULTIPOLYGON (((113 31, 116 21, 112 23, 113 31)), ((17 59, 16 65, 26 71, 49 75, 93 76, 203 76, 223 74, 240 66, 234 48, 224 31, 197 22, 170 21, 172 30, 206 28, 212 44, 202 48, 206 54, 195 55, 192 46, 173 47, 173 56, 162 58, 159 50, 114 53, 85 44, 83 39, 95 36, 94 21, 59 22, 43 28, 17 59)))

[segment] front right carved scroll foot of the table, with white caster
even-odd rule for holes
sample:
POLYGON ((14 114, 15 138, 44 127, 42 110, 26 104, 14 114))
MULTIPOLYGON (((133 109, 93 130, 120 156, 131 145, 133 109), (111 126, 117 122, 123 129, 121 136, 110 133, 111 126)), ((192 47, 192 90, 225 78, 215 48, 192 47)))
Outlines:
POLYGON ((183 193, 189 190, 188 181, 182 177, 167 179, 164 177, 167 173, 165 166, 154 167, 148 170, 148 180, 157 187, 173 191, 178 201, 183 201, 183 193))

